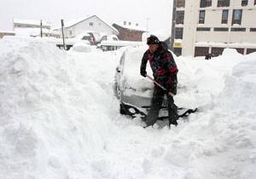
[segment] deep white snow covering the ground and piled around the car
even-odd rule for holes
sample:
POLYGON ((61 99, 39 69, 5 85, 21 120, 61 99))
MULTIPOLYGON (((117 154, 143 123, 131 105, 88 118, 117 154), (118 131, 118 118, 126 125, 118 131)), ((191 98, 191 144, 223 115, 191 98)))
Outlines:
POLYGON ((0 46, 0 178, 256 178, 255 53, 177 58, 175 101, 201 112, 169 130, 119 114, 120 51, 0 46))

